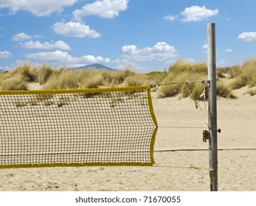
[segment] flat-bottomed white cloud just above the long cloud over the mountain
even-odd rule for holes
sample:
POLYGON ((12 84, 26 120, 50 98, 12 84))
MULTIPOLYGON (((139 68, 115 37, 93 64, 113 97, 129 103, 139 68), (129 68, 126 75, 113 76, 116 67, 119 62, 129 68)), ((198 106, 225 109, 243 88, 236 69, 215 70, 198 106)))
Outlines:
POLYGON ((36 41, 27 41, 22 44, 22 47, 25 49, 60 49, 60 50, 69 50, 71 49, 68 44, 62 40, 57 40, 56 42, 44 42, 41 43, 38 40, 36 41))

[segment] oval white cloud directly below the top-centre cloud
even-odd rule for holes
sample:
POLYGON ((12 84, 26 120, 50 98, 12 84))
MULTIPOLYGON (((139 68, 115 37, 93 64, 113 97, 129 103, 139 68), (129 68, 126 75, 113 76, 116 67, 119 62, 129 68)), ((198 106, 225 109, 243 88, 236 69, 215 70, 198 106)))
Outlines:
POLYGON ((68 23, 57 22, 52 25, 52 29, 58 35, 64 35, 75 38, 99 38, 100 34, 89 26, 79 22, 69 21, 68 23))

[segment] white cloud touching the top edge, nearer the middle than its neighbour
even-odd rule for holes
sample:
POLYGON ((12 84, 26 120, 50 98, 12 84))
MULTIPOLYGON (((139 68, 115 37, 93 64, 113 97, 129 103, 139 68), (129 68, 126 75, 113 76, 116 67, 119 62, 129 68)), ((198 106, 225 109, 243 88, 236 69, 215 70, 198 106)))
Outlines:
POLYGON ((75 10, 73 15, 77 21, 86 15, 100 15, 103 18, 114 18, 121 11, 127 10, 128 0, 97 0, 86 4, 80 10, 75 10))

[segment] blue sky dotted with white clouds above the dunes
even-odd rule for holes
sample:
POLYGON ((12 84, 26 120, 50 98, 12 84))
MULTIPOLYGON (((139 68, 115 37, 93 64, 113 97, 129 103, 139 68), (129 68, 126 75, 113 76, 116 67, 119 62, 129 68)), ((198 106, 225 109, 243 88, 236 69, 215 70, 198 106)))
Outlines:
POLYGON ((207 23, 216 24, 217 65, 242 64, 256 56, 255 9, 255 0, 0 0, 0 69, 207 62, 207 23))

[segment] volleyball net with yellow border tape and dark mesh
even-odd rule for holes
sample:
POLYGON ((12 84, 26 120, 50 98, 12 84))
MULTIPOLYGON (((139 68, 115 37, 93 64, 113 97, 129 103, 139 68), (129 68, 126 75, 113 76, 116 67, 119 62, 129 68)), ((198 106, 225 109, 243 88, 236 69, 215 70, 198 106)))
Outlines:
POLYGON ((0 91, 0 168, 152 166, 148 86, 0 91))

